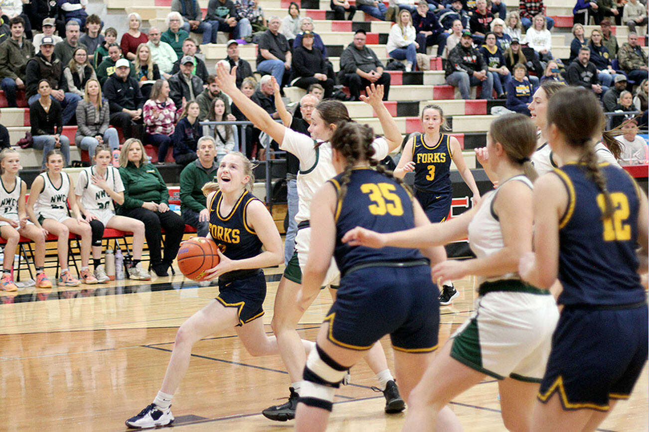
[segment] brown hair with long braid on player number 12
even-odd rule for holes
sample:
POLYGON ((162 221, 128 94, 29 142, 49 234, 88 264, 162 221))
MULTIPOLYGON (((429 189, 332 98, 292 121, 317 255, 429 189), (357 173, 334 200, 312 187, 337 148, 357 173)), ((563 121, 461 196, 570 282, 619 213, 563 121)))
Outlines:
POLYGON ((594 93, 583 87, 566 87, 558 91, 548 104, 548 126, 550 124, 557 127, 569 146, 583 150, 578 162, 586 166, 587 176, 604 195, 602 220, 610 218, 613 202, 606 186, 606 176, 600 170, 594 152, 596 137, 604 124, 604 111, 594 93))

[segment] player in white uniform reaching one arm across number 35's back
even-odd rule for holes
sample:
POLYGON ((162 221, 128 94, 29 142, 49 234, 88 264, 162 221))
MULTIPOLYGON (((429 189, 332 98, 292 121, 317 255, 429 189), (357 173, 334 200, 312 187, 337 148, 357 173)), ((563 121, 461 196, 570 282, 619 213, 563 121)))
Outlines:
POLYGON ((476 254, 472 260, 448 260, 433 267, 433 280, 476 275, 479 296, 476 311, 411 392, 406 431, 434 430, 442 420, 441 409, 485 375, 498 380, 505 426, 532 426, 532 407, 559 318, 550 291, 522 282, 517 273, 520 257, 532 250, 532 180, 527 176, 535 177, 529 163, 535 127, 522 114, 503 115, 491 123, 487 139, 498 188, 487 192, 478 207, 442 224, 369 236, 357 228, 343 237, 343 242, 360 237, 352 245, 424 247, 468 235, 476 254), (363 234, 369 240, 363 240, 363 234))

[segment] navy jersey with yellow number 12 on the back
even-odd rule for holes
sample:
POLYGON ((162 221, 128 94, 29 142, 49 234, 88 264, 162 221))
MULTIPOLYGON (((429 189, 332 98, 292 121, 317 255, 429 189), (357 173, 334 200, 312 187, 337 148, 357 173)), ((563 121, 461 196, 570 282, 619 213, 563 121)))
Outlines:
POLYGON ((559 304, 620 305, 642 302, 637 273, 639 190, 624 170, 600 164, 613 201, 613 217, 602 220, 604 194, 584 165, 569 163, 554 172, 569 195, 559 220, 559 304))

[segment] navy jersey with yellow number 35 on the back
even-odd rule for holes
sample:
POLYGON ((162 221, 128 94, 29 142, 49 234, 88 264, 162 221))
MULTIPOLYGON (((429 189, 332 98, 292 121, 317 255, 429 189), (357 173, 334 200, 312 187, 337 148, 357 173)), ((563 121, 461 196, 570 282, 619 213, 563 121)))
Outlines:
MULTIPOLYGON (((341 177, 329 180, 339 190, 341 177)), ((344 275, 357 264, 367 262, 400 262, 424 258, 419 249, 384 247, 372 249, 364 246, 350 246, 340 239, 354 227, 363 227, 378 233, 392 233, 415 227, 412 210, 412 196, 394 179, 380 174, 372 168, 352 170, 347 183, 347 194, 336 205, 336 249, 334 258, 338 269, 344 275)))

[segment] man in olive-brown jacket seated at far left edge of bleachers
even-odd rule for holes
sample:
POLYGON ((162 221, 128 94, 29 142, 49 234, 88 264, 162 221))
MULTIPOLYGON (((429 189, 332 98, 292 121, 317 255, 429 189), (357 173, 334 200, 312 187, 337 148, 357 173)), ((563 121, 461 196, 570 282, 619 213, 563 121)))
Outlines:
POLYGON ((22 17, 14 17, 9 22, 11 37, 0 44, 0 87, 5 91, 9 108, 16 108, 16 91, 25 89, 25 68, 32 58, 34 47, 24 36, 22 17))

